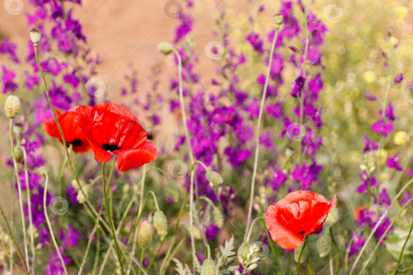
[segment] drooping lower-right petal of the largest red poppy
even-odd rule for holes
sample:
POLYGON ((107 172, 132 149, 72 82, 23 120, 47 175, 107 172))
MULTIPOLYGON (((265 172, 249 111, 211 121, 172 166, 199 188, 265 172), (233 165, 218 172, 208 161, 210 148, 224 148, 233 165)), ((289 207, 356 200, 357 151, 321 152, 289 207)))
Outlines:
POLYGON ((121 172, 140 167, 158 157, 157 148, 148 140, 145 141, 141 148, 121 149, 115 152, 118 155, 118 169, 121 172))

